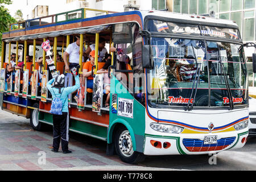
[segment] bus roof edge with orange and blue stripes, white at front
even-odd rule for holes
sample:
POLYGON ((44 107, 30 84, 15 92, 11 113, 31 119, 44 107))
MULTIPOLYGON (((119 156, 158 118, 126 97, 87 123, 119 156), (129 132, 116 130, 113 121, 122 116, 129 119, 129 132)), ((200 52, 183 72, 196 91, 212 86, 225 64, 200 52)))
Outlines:
MULTIPOLYGON (((79 9, 77 11, 82 11, 83 13, 83 9, 79 9)), ((65 14, 65 13, 62 13, 62 14, 65 14)), ((27 36, 27 38, 30 39, 31 37, 29 36, 31 35, 40 36, 42 34, 46 34, 47 36, 47 34, 53 33, 53 32, 64 32, 68 30, 75 31, 82 28, 104 26, 108 24, 115 24, 115 23, 121 23, 121 22, 138 22, 138 24, 142 28, 144 28, 143 23, 144 23, 144 18, 146 18, 146 16, 158 16, 158 17, 160 16, 162 18, 189 20, 191 22, 193 21, 202 22, 202 23, 210 22, 210 23, 221 24, 222 26, 225 24, 228 24, 228 25, 237 27, 237 24, 230 20, 221 19, 220 21, 220 19, 212 18, 208 16, 179 14, 179 13, 172 13, 170 11, 156 11, 156 10, 127 11, 122 13, 113 13, 113 14, 95 16, 92 18, 82 17, 82 18, 76 18, 76 19, 66 19, 61 21, 57 20, 59 15, 61 14, 46 16, 46 17, 52 17, 52 19, 55 19, 55 22, 52 21, 51 23, 48 23, 48 22, 43 23, 42 20, 46 17, 40 17, 40 18, 35 18, 35 19, 30 19, 30 20, 25 20, 23 22, 20 22, 19 24, 20 25, 22 24, 22 28, 18 28, 14 30, 10 28, 9 32, 3 33, 2 39, 5 42, 11 42, 11 41, 22 40, 20 38, 24 36, 27 36), (35 23, 36 20, 38 23, 33 25, 32 23, 35 23)), ((65 33, 67 35, 67 32, 65 33)), ((69 32, 69 35, 71 34, 72 34, 72 31, 69 32)), ((59 34, 59 35, 64 35, 64 34, 59 34)), ((58 35, 56 34, 56 36, 58 35)), ((41 36, 40 38, 42 37, 43 36, 41 36)))

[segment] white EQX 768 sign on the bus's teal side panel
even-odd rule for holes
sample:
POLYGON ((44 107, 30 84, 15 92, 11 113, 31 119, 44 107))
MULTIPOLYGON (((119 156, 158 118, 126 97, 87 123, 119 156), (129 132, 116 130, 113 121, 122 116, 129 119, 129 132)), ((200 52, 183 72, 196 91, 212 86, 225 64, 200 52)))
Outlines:
POLYGON ((133 118, 133 100, 118 98, 118 115, 133 118))

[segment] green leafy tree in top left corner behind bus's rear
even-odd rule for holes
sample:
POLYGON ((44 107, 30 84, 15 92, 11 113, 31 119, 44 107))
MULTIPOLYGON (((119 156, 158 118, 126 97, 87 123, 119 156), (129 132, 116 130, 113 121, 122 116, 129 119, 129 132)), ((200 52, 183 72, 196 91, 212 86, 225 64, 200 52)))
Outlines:
POLYGON ((11 5, 11 0, 0 0, 0 54, 2 51, 2 34, 9 31, 10 23, 16 20, 10 15, 9 10, 4 5, 11 5))

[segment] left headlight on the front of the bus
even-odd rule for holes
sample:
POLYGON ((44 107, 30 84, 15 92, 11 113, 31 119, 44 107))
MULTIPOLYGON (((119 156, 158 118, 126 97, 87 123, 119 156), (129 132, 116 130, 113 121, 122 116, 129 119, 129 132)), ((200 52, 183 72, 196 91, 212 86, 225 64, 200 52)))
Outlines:
POLYGON ((164 133, 181 133, 183 131, 183 127, 175 126, 175 125, 167 125, 160 123, 150 123, 150 127, 153 130, 164 132, 164 133))

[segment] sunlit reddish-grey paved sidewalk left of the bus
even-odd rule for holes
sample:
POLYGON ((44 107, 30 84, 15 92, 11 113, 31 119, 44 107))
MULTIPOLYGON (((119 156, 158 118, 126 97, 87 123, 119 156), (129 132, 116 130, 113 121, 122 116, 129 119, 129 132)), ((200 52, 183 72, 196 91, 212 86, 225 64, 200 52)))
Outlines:
MULTIPOLYGON (((123 163, 117 155, 107 156, 101 146, 89 141, 69 140, 71 154, 51 151, 52 131, 34 131, 29 119, 0 110, 1 170, 167 170, 123 163), (97 147, 96 147, 97 146, 97 147)), ((80 135, 79 135, 80 137, 80 135)), ((89 138, 90 139, 90 138, 89 138)), ((169 170, 169 169, 168 169, 169 170)))

